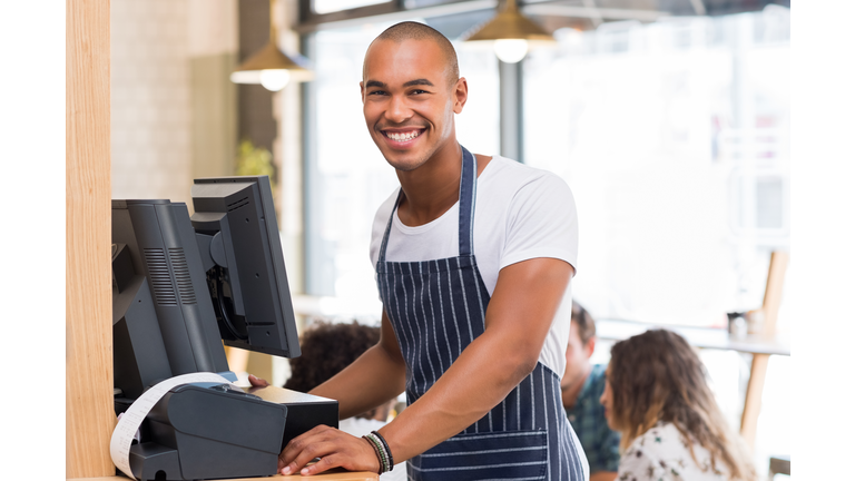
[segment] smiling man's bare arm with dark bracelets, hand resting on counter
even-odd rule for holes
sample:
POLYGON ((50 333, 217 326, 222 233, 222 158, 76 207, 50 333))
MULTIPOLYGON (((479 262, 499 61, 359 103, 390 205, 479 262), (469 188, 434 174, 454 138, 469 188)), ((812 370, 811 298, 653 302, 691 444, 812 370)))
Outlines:
MULTIPOLYGON (((572 272, 570 264, 554 258, 524 261, 500 271, 488 305, 484 333, 463 350, 417 402, 380 430, 395 462, 420 454, 463 431, 531 373, 572 272)), ((400 350, 397 353, 400 355, 400 350)), ((358 375, 372 376, 362 370, 358 375)), ((342 372, 341 377, 344 376, 342 372)), ((371 381, 364 379, 363 382, 371 381)), ((336 381, 335 384, 335 390, 325 384, 324 390, 318 387, 313 393, 334 397, 358 382, 336 381)), ((365 404, 348 404, 346 409, 348 413, 355 412, 365 404)), ((279 459, 285 474, 297 470, 316 474, 336 467, 376 470, 379 465, 367 441, 323 426, 295 438, 279 459), (315 458, 321 461, 304 468, 315 458)))

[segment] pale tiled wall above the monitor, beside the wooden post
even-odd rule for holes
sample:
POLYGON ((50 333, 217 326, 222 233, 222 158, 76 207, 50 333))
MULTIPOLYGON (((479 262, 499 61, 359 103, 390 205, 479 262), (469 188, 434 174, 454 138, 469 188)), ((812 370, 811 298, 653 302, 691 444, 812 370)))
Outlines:
POLYGON ((110 2, 114 198, 189 203, 188 7, 187 0, 110 2))

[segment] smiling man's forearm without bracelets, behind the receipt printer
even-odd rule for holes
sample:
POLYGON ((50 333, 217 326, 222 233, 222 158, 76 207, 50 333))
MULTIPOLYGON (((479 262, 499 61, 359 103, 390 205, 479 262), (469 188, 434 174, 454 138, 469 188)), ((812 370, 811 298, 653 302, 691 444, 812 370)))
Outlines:
POLYGON ((380 345, 309 393, 338 401, 338 418, 370 411, 404 391, 405 367, 380 345))

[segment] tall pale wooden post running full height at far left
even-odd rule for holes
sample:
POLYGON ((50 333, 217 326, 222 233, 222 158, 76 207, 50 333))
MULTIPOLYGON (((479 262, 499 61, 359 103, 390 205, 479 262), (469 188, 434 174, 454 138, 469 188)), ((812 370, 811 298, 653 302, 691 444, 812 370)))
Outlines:
POLYGON ((66 1, 66 478, 114 474, 110 2, 66 1))

